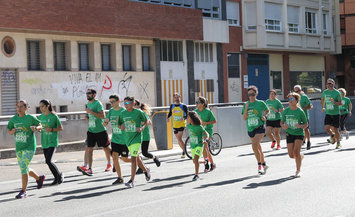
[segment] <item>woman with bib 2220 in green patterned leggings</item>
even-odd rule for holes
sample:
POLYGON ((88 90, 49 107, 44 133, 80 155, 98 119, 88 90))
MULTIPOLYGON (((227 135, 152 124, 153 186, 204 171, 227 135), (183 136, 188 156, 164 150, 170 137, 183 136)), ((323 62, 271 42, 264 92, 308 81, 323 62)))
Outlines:
POLYGON ((27 114, 29 108, 27 101, 20 100, 16 103, 17 115, 13 116, 7 129, 9 134, 15 134, 15 151, 17 156, 18 165, 20 166, 22 174, 22 189, 16 198, 27 197, 26 189, 28 183, 28 175, 33 177, 37 182, 37 189, 42 188, 44 175, 38 175, 33 169, 28 168, 31 162, 34 152, 36 151, 36 138, 34 137, 34 131, 42 130, 40 120, 35 116, 27 114))

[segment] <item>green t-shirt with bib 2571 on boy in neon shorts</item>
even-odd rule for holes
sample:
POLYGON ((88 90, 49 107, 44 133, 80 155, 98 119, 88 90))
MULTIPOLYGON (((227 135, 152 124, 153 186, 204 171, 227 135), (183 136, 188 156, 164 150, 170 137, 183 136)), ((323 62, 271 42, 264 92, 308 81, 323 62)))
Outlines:
POLYGON ((142 126, 141 122, 148 119, 146 113, 140 109, 133 108, 132 112, 124 110, 120 113, 118 118, 118 124, 125 124, 125 138, 126 146, 129 147, 132 144, 142 144, 142 132, 137 132, 137 128, 142 126))

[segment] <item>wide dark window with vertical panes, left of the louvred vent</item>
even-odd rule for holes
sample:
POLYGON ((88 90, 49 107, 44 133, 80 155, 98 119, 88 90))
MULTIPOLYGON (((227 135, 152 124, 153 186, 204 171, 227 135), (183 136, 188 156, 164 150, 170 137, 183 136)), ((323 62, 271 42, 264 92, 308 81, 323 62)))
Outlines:
POLYGON ((160 61, 182 62, 182 41, 160 40, 160 61))

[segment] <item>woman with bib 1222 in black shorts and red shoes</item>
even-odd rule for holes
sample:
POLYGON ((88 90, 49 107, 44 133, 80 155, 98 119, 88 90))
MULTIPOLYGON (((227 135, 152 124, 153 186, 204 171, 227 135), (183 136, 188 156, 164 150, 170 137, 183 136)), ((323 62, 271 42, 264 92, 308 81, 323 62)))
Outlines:
POLYGON ((266 134, 271 139, 271 148, 275 147, 275 143, 277 142, 276 150, 280 150, 280 119, 281 112, 284 110, 282 103, 277 99, 277 92, 275 90, 271 90, 269 92, 269 99, 266 101, 266 105, 270 110, 270 114, 266 120, 266 134), (274 129, 274 135, 272 135, 272 129, 274 129))

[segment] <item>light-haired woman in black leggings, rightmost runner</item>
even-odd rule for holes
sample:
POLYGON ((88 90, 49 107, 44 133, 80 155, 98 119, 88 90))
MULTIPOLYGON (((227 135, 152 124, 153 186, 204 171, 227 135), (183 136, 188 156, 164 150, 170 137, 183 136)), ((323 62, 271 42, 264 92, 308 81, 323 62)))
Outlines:
POLYGON ((342 105, 340 106, 340 141, 343 140, 343 136, 345 135, 346 139, 349 139, 349 131, 346 131, 345 121, 351 116, 351 109, 353 109, 353 105, 348 97, 345 97, 346 91, 344 88, 338 89, 340 95, 342 96, 342 105), (349 110, 348 110, 349 105, 349 110))

